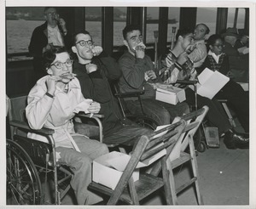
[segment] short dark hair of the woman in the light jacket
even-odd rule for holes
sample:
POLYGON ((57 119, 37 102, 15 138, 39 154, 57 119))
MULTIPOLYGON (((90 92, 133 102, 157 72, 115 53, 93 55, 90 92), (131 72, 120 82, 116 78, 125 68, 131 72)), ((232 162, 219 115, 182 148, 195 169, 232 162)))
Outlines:
POLYGON ((49 66, 56 59, 56 54, 61 54, 63 52, 67 52, 67 49, 65 47, 51 46, 49 49, 47 49, 43 54, 44 68, 46 70, 49 69, 49 66))

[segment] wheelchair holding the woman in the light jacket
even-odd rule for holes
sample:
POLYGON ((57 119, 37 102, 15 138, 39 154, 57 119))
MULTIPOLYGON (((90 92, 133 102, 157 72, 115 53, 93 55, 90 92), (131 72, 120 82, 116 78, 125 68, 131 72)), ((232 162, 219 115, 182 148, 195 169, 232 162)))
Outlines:
MULTIPOLYGON (((26 96, 9 99, 8 106, 11 136, 6 140, 6 204, 61 205, 71 189, 69 180, 73 172, 56 161, 54 130, 45 127, 32 130, 27 125, 26 96), (28 132, 41 134, 49 143, 27 138, 28 132)), ((79 116, 90 117, 85 114, 79 116)), ((89 119, 100 122, 96 116, 89 119)), ((95 128, 94 133, 100 132, 102 141, 102 124, 95 128)))

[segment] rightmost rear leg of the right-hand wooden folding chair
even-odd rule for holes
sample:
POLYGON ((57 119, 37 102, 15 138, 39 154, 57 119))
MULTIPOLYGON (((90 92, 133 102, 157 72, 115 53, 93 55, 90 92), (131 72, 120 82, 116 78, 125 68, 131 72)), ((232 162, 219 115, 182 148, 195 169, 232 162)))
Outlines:
POLYGON ((193 170, 194 177, 196 178, 195 190, 196 190, 198 205, 204 205, 203 199, 200 193, 200 188, 199 188, 199 172, 198 172, 197 161, 195 156, 195 147, 194 147, 193 138, 190 135, 189 135, 189 148, 190 148, 190 155, 191 155, 192 170, 193 170))

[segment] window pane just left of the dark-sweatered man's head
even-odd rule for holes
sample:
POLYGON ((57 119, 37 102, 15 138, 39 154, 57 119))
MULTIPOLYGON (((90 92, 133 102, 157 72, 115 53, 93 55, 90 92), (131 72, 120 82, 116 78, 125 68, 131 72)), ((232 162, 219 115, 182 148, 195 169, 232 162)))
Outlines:
POLYGON ((123 43, 123 29, 126 25, 127 8, 114 7, 113 8, 113 46, 122 46, 123 43))

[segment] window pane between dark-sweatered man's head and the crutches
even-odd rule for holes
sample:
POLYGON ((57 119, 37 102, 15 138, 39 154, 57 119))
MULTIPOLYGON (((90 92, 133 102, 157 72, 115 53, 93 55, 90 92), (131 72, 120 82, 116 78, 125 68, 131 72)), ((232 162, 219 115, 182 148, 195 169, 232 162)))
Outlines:
POLYGON ((154 42, 154 31, 158 31, 159 8, 147 8, 146 43, 154 42))

